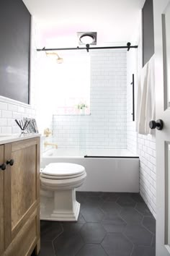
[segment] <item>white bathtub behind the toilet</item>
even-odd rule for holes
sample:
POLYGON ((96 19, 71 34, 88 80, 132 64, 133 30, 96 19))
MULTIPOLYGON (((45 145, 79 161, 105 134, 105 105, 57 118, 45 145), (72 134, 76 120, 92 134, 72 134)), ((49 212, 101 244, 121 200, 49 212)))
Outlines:
POLYGON ((41 167, 58 162, 86 168, 81 191, 139 192, 139 158, 128 150, 53 149, 42 155, 41 167))

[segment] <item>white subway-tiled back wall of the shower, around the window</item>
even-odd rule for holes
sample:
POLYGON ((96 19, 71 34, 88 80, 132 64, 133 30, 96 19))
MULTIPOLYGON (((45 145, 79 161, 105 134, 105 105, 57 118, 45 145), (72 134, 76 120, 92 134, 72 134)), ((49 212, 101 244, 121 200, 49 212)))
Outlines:
POLYGON ((90 115, 54 115, 58 148, 126 148, 126 51, 91 51, 90 115))

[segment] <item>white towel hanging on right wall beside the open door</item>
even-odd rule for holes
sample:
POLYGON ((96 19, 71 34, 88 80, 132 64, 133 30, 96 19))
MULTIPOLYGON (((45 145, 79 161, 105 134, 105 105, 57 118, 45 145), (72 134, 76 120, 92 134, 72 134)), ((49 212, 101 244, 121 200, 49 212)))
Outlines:
POLYGON ((154 56, 141 70, 137 97, 137 131, 142 135, 153 133, 149 121, 155 120, 154 56))

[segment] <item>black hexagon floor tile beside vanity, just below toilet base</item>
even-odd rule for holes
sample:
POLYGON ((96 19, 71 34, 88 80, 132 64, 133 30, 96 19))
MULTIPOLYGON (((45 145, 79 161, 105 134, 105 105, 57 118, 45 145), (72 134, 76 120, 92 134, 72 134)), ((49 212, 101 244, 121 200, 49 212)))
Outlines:
POLYGON ((40 234, 41 241, 53 241, 57 236, 63 232, 61 223, 58 221, 41 221, 40 234))

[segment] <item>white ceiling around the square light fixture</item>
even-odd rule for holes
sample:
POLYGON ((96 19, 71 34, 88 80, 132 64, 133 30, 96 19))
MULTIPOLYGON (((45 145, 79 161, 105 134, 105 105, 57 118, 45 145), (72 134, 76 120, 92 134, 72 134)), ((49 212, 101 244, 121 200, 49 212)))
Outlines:
POLYGON ((23 0, 44 46, 78 46, 76 32, 97 32, 98 45, 128 42, 145 0, 23 0), (55 45, 54 45, 55 44, 55 45))

